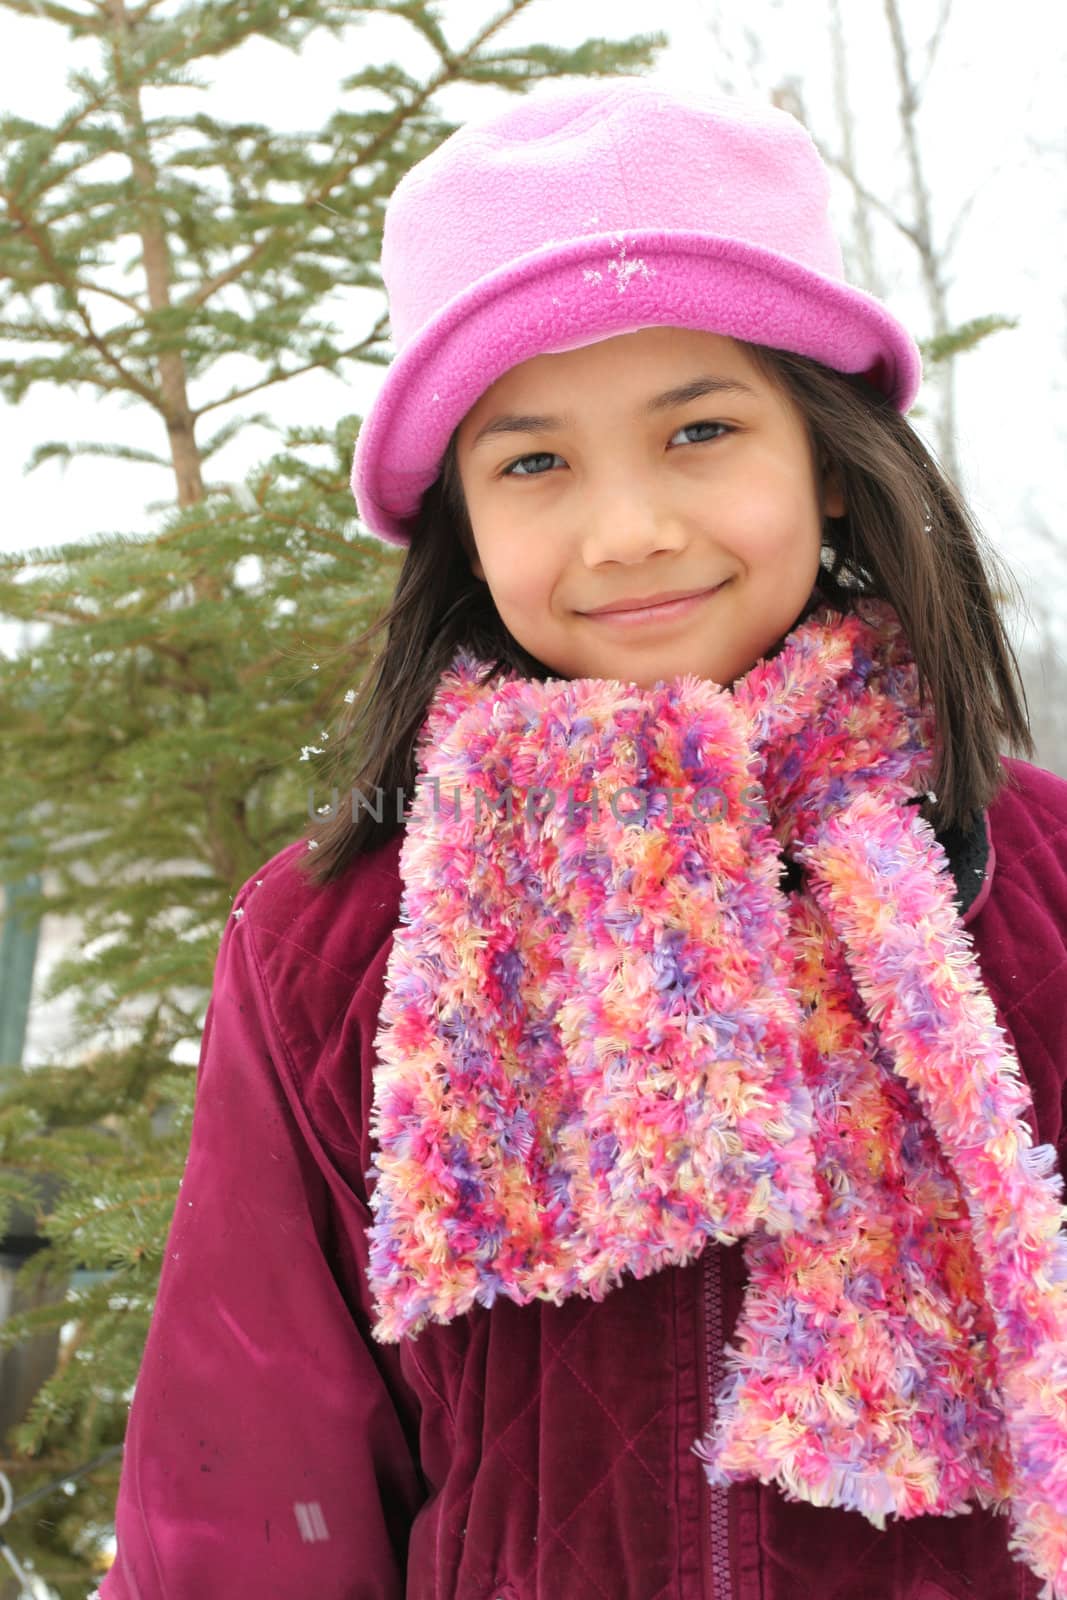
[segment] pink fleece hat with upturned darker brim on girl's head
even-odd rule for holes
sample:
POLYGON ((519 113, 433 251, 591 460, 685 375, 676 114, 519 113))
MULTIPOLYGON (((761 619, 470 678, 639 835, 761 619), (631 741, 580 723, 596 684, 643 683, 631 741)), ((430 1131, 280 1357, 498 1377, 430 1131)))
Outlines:
POLYGON ((787 112, 649 78, 541 85, 459 128, 386 211, 397 355, 355 446, 366 528, 410 542, 453 429, 509 368, 638 328, 809 355, 907 411, 918 349, 845 283, 829 194, 787 112))

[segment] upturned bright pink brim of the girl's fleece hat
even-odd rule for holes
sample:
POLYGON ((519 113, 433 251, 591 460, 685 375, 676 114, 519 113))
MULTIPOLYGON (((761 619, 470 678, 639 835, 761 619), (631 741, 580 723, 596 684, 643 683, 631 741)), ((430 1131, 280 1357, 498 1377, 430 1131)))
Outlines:
POLYGON ((921 382, 915 341, 878 299, 771 250, 678 230, 552 243, 470 285, 395 357, 355 446, 363 523, 387 544, 410 542, 453 430, 512 366, 649 326, 861 373, 897 411, 921 382))

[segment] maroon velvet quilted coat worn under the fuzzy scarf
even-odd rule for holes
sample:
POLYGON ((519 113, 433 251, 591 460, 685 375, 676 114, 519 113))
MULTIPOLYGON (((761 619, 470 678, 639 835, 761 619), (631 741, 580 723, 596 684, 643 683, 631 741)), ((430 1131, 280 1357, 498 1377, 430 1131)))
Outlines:
MULTIPOLYGON (((1019 787, 979 832, 965 922, 1062 1165, 1067 782, 1006 765, 1019 787)), ((371 1338, 368 1112, 400 838, 322 890, 296 870, 304 848, 242 888, 222 936, 104 1600, 1035 1600, 1006 1517, 880 1533, 755 1482, 709 1491, 691 1445, 741 1245, 600 1304, 498 1299, 400 1346, 371 1338)))

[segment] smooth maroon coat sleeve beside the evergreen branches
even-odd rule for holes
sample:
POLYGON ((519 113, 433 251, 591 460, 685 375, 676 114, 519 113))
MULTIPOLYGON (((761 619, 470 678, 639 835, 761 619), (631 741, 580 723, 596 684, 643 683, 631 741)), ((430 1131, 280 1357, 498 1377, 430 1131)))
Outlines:
POLYGON ((101 1600, 402 1600, 418 1402, 360 1331, 328 1184, 242 926, 222 934, 189 1160, 130 1410, 101 1600))

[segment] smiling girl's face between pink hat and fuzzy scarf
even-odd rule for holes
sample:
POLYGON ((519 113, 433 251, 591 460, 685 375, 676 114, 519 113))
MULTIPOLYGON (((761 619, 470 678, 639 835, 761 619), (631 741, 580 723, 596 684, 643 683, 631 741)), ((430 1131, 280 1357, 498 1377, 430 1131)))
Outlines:
POLYGON ((811 597, 822 517, 803 418, 733 339, 641 328, 504 373, 459 424, 477 560, 558 677, 729 685, 811 597), (661 613, 592 616, 664 594, 661 613))

